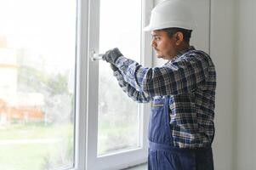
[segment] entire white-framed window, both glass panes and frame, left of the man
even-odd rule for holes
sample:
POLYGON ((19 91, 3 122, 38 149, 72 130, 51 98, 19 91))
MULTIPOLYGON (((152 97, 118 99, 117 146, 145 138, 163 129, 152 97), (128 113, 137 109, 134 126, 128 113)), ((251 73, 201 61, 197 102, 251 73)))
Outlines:
POLYGON ((109 65, 91 56, 117 47, 151 66, 151 36, 141 28, 152 4, 1 1, 0 169, 121 169, 146 161, 149 105, 129 99, 109 65))

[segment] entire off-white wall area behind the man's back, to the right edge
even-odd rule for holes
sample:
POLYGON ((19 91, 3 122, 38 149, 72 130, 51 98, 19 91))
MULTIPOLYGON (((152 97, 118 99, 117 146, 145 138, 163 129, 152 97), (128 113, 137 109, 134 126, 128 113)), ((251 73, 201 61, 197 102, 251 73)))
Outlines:
POLYGON ((217 170, 256 169, 256 1, 212 1, 211 55, 218 74, 217 170))

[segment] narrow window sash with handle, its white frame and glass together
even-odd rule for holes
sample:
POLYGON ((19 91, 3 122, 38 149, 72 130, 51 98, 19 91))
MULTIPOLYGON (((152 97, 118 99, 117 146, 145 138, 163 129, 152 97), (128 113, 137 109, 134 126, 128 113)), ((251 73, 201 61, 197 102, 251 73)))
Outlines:
MULTIPOLYGON (((124 56, 146 63, 141 56, 151 48, 145 49, 150 42, 142 32, 145 1, 94 0, 89 8, 90 57, 117 47, 124 56)), ((148 115, 145 105, 122 92, 108 63, 89 59, 88 169, 123 168, 145 161, 148 115)))

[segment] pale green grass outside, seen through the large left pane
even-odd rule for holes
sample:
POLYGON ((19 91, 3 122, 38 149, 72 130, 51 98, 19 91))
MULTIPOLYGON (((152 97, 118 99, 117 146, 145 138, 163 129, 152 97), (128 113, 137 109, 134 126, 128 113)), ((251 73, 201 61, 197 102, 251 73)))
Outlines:
POLYGON ((72 133, 71 124, 1 127, 0 169, 46 170, 71 164, 72 133), (44 139, 46 142, 40 142, 44 139))

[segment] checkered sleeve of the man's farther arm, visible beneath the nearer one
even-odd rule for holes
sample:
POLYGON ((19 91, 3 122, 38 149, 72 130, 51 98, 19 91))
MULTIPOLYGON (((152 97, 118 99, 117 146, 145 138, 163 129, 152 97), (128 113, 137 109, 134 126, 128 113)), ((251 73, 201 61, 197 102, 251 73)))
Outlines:
POLYGON ((125 82, 120 71, 114 71, 113 75, 117 78, 118 84, 122 88, 122 91, 128 94, 129 98, 138 103, 148 103, 151 101, 151 98, 145 97, 143 92, 137 91, 128 82, 125 82))

